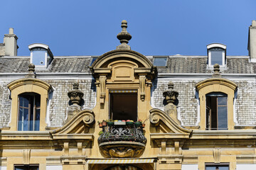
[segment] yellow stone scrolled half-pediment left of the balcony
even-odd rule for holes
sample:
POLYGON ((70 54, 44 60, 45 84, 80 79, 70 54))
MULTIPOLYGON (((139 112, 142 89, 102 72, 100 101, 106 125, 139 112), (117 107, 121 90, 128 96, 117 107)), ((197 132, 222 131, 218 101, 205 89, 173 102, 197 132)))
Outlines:
POLYGON ((95 114, 91 110, 82 110, 68 120, 63 127, 50 131, 53 139, 92 140, 95 114))

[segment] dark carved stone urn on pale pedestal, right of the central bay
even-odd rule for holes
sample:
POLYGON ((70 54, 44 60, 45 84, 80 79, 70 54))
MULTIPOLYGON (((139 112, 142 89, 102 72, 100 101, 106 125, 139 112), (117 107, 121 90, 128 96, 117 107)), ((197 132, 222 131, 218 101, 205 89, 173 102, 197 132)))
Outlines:
POLYGON ((178 123, 178 125, 181 125, 180 120, 177 118, 177 108, 176 105, 174 105, 174 102, 176 101, 178 97, 178 92, 174 91, 174 83, 169 81, 168 83, 168 90, 164 91, 163 93, 164 98, 166 99, 167 105, 164 106, 164 111, 171 116, 171 118, 178 123))

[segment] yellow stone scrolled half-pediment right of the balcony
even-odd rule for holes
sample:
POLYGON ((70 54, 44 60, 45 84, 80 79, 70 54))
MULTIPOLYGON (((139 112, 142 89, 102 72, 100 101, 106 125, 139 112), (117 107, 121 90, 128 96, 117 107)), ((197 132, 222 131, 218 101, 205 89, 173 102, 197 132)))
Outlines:
POLYGON ((150 111, 151 137, 155 138, 188 138, 192 130, 178 125, 167 113, 157 108, 150 111))

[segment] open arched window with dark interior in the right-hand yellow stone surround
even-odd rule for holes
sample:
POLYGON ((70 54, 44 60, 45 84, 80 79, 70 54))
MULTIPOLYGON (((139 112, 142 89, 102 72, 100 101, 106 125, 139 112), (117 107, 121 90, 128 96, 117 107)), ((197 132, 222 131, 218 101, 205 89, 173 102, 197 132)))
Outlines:
POLYGON ((227 94, 206 94, 206 130, 228 129, 227 101, 227 94))

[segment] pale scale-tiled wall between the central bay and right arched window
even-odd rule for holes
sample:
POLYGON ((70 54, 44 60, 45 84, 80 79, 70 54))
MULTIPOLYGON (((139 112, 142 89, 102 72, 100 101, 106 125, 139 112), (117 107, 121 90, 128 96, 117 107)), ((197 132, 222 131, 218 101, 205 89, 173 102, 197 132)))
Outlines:
MULTIPOLYGON (((154 81, 154 106, 164 107, 163 92, 168 89, 167 84, 170 80, 154 81)), ((196 125, 198 102, 195 96, 197 81, 175 81, 174 90, 178 91, 178 108, 180 109, 181 120, 184 125, 196 125)))

